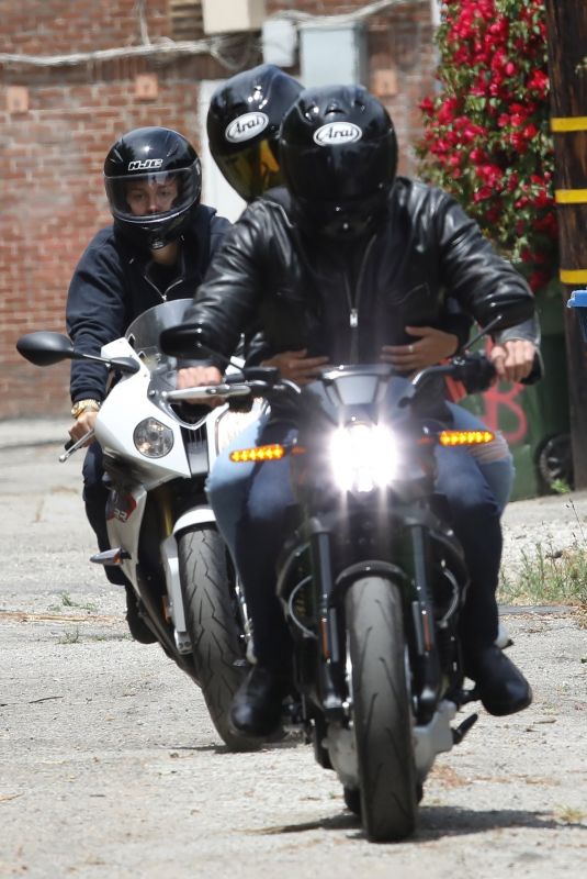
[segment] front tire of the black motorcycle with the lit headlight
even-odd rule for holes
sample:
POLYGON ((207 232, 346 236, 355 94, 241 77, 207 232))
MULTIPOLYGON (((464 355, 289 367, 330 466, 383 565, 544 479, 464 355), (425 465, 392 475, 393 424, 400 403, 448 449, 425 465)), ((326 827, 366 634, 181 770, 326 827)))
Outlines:
POLYGON ((381 577, 346 597, 361 821, 371 842, 396 842, 416 826, 416 769, 398 588, 381 577))

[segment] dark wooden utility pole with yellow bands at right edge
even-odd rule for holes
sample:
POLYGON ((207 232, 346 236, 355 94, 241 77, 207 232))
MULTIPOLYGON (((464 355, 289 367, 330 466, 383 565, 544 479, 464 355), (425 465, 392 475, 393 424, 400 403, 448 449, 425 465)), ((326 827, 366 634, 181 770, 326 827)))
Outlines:
MULTIPOLYGON (((564 303, 587 289, 586 0, 545 0, 551 129, 564 303)), ((565 308, 565 337, 575 488, 587 488, 587 345, 577 314, 565 308)))

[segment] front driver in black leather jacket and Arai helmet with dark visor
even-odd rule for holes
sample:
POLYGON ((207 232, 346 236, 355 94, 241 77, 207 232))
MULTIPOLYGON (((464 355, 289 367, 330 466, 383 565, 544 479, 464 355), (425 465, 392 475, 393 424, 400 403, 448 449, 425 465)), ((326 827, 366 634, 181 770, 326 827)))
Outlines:
MULTIPOLYGON (((532 309, 531 292, 477 225, 447 193, 396 177, 397 145, 383 105, 361 87, 303 91, 280 135, 286 187, 253 202, 213 259, 187 320, 226 356, 260 318, 273 351, 307 348, 329 363, 373 363, 405 344, 406 325, 434 325, 445 290, 479 323, 508 302, 532 309)), ((533 322, 495 334, 500 378, 531 369, 533 322)), ((180 387, 217 383, 216 366, 187 369, 180 387)), ((291 425, 272 420, 259 443, 283 442, 291 425)), ((472 579, 461 619, 465 671, 493 714, 530 704, 531 690, 495 646, 501 554, 499 509, 474 458, 439 454, 445 494, 472 579)), ((274 593, 276 557, 292 502, 287 458, 258 465, 248 487, 235 554, 255 630, 257 665, 237 693, 232 719, 247 734, 279 724, 290 686, 291 643, 274 593), (262 535, 259 538, 259 535, 262 535)))

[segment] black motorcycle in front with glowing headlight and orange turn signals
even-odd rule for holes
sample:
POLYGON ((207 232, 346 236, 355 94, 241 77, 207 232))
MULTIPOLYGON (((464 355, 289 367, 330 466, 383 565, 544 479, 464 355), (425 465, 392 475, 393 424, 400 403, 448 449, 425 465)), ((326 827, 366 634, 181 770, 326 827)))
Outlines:
MULTIPOLYGON (((169 330, 161 342, 185 354, 205 347, 197 333, 169 330)), ((230 400, 248 391, 285 404, 296 425, 289 445, 230 457, 291 456, 297 521, 276 570, 294 644, 295 696, 284 703, 284 725, 305 731, 317 763, 337 772, 370 841, 413 833, 437 755, 477 720, 473 713, 452 725, 478 697, 464 688, 458 623, 469 577, 448 504, 434 491, 434 448, 493 434, 458 432, 427 412, 430 397, 442 397, 437 377, 478 392, 494 375, 484 355, 464 353, 411 380, 387 365, 340 366, 300 388, 274 369, 249 368, 240 380, 168 394, 230 400)))

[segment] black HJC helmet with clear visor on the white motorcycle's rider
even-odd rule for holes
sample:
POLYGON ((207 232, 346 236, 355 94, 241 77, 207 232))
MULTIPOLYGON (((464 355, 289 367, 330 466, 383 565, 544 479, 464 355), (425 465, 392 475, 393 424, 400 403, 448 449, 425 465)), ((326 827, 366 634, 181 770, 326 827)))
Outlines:
POLYGON ((178 132, 135 129, 110 149, 104 183, 116 224, 155 251, 181 235, 200 201, 202 170, 197 153, 178 132))

